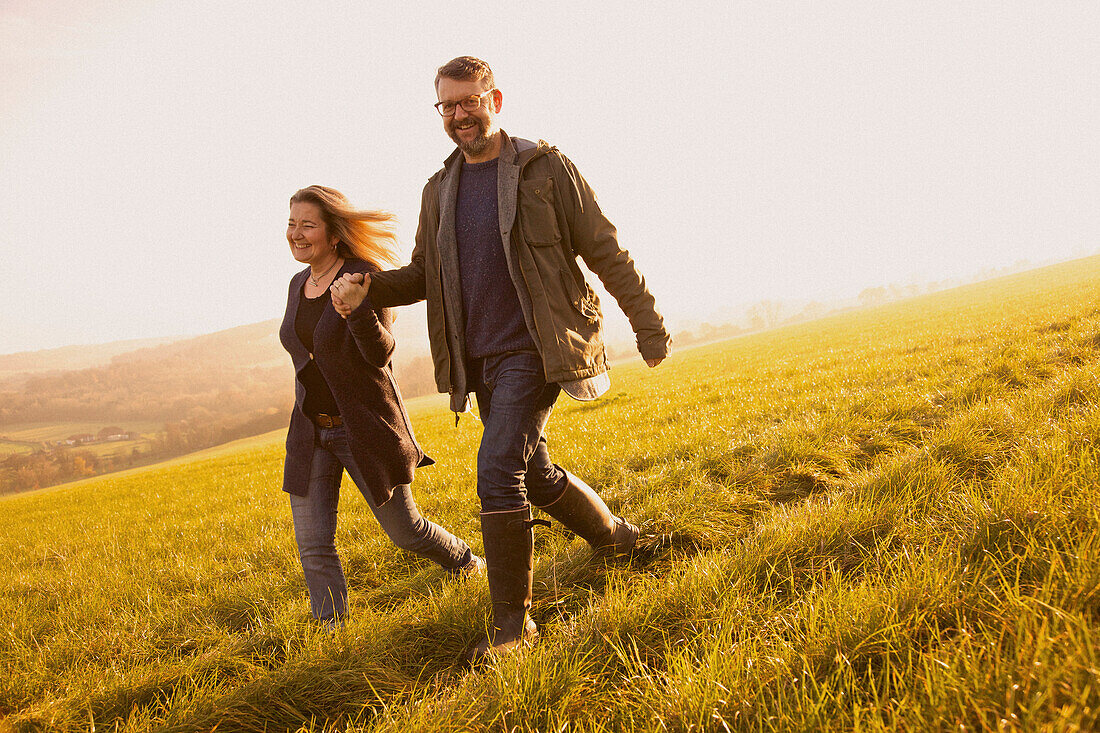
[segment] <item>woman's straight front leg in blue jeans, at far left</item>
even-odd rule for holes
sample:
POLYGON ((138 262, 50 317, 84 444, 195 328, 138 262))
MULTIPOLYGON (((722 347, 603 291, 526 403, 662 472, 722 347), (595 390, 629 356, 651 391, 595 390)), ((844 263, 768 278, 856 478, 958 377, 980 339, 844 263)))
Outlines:
POLYGON ((308 493, 290 494, 294 538, 309 589, 309 608, 314 617, 327 626, 339 623, 348 609, 348 583, 336 548, 342 474, 340 462, 318 446, 314 450, 308 493))

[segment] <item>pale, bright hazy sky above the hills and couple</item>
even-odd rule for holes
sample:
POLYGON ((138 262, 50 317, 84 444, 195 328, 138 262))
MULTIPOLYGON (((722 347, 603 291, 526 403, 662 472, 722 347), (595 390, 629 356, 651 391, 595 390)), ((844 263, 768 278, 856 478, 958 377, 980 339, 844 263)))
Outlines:
POLYGON ((408 254, 464 54, 672 324, 1100 250, 1094 0, 0 0, 0 353, 280 317, 310 184, 408 254))

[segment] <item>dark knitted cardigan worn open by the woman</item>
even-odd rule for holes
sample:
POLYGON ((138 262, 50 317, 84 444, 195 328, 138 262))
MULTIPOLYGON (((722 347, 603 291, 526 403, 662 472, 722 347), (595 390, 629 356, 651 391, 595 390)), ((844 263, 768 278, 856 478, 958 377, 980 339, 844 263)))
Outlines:
MULTIPOLYGON (((337 277, 348 272, 376 270, 362 260, 348 259, 337 277)), ((344 320, 330 298, 319 298, 324 306, 314 328, 314 348, 308 349, 296 332, 295 320, 309 272, 306 267, 290 280, 279 328, 279 340, 290 354, 297 376, 290 428, 286 434, 283 491, 298 495, 309 491, 316 427, 304 409, 306 385, 301 375, 312 362, 343 418, 348 444, 366 489, 383 504, 393 496, 394 486, 413 481, 417 467, 433 462, 413 435, 400 391, 389 370, 394 353, 394 337, 389 332, 393 318, 388 308, 374 308, 367 297, 344 320)))

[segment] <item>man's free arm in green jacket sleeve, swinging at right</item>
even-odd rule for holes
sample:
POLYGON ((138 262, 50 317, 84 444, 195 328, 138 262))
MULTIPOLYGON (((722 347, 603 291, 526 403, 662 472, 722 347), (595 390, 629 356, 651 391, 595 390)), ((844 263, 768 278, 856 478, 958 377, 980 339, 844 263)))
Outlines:
POLYGON ((563 185, 559 192, 570 221, 573 251, 618 303, 638 339, 641 358, 656 366, 669 355, 672 337, 646 287, 646 278, 638 272, 630 253, 619 247, 615 226, 600 210, 595 192, 573 162, 558 151, 550 156, 554 167, 560 166, 562 173, 563 185), (570 184, 564 185, 565 182, 570 184))

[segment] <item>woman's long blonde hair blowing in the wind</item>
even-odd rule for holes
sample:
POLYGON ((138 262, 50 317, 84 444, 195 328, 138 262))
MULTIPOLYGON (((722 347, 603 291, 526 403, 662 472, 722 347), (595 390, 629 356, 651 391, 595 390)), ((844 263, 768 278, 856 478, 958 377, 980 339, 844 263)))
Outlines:
POLYGON ((328 186, 307 186, 295 192, 290 205, 295 204, 317 205, 324 227, 340 238, 337 243, 340 256, 359 258, 378 267, 402 264, 394 231, 397 217, 389 211, 356 209, 346 196, 328 186))

